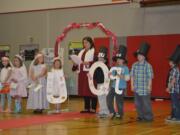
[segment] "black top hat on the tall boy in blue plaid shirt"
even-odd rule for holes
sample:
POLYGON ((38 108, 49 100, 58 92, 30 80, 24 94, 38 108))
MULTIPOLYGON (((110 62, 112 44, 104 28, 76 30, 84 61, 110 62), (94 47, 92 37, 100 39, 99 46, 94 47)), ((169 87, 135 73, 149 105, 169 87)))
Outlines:
POLYGON ((149 49, 150 45, 146 42, 143 42, 141 43, 140 48, 134 53, 134 55, 137 56, 138 54, 141 54, 144 57, 147 57, 149 49))

